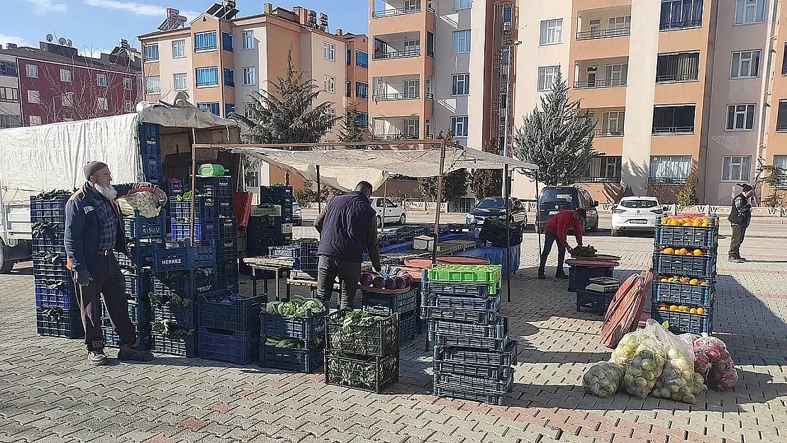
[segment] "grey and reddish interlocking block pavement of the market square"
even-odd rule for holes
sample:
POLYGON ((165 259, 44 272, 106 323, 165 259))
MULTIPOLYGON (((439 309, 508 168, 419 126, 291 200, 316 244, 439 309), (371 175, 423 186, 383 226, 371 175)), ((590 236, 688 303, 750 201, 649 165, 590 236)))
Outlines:
MULTIPOLYGON (((645 268, 652 253, 648 238, 590 234, 587 243, 623 256, 620 278, 645 268)), ((504 407, 433 397, 423 335, 403 346, 399 382, 380 394, 327 386, 321 371, 176 356, 89 367, 80 341, 35 334, 31 268, 20 264, 0 276, 0 442, 787 441, 787 240, 748 239, 742 253, 752 261, 719 261, 715 335, 741 378, 732 392, 710 391, 695 405, 584 393, 586 367, 610 356, 600 317, 576 312, 564 281, 536 279, 535 234, 522 247, 503 305, 519 340, 504 407)), ((249 286, 242 282, 243 291, 249 286)))

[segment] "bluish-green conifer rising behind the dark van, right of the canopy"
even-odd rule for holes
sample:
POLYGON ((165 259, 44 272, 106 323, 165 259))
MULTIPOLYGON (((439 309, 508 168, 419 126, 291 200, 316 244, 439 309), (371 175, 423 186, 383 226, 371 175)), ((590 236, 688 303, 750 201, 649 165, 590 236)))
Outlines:
MULTIPOLYGON (((560 71, 555 83, 538 106, 525 116, 514 135, 514 153, 519 160, 538 165, 538 181, 546 186, 576 183, 586 175, 593 158, 593 118, 582 111, 579 101, 571 102, 568 86, 560 71)), ((534 171, 525 175, 535 179, 534 171)))

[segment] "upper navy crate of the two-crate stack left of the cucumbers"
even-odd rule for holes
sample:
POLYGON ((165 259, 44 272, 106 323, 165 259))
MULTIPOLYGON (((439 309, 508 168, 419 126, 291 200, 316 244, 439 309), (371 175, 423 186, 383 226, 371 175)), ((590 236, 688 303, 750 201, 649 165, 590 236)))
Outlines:
POLYGON ((260 310, 268 295, 246 297, 231 290, 218 290, 199 299, 200 326, 227 330, 254 330, 259 334, 260 310))

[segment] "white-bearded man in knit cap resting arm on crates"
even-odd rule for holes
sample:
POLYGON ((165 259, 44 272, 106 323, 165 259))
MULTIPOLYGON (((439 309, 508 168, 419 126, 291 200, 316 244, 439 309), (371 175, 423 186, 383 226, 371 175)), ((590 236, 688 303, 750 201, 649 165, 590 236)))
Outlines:
POLYGON ((149 361, 150 351, 140 349, 136 330, 128 317, 125 280, 115 251, 127 256, 127 240, 116 198, 150 191, 166 202, 167 194, 150 183, 112 184, 109 167, 91 161, 84 167, 85 183, 65 205, 65 253, 68 268, 75 274, 76 294, 85 327, 87 360, 100 366, 107 363, 101 320, 101 301, 117 336, 118 360, 149 361))

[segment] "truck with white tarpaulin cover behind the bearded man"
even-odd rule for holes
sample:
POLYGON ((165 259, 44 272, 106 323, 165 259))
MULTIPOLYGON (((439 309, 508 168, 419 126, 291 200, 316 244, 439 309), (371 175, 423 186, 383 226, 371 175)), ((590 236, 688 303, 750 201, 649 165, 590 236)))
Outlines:
MULTIPOLYGON (((235 121, 193 105, 162 102, 141 102, 135 113, 120 116, 0 130, 0 274, 31 259, 30 197, 82 186, 88 161, 108 164, 114 183, 156 181, 142 173, 140 131, 146 125, 158 127, 164 177, 189 177, 194 143, 240 141, 235 121)), ((239 176, 238 154, 198 150, 195 157, 239 176)))

